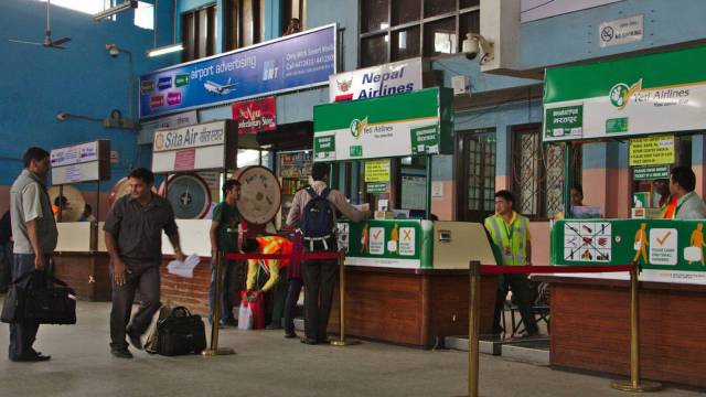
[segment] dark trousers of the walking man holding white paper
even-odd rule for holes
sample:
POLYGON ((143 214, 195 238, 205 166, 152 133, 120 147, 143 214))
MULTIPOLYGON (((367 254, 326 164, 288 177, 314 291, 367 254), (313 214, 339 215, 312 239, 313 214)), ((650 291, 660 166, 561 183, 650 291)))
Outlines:
POLYGON ((127 275, 125 285, 118 286, 115 283, 115 279, 113 280, 111 348, 126 348, 128 346, 125 341, 126 333, 130 333, 133 336, 142 335, 152 322, 152 315, 161 307, 159 301, 159 266, 157 264, 143 264, 139 267, 126 264, 126 266, 131 272, 127 275), (136 290, 140 291, 140 308, 132 316, 132 321, 130 321, 136 290))

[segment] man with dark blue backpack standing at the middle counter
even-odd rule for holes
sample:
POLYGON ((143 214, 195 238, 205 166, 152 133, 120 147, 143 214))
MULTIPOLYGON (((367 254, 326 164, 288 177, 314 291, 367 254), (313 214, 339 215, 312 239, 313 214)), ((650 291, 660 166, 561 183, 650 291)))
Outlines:
MULTIPOLYGON (((349 204, 345 196, 329 189, 329 164, 317 162, 311 168, 313 183, 295 195, 287 225, 298 228, 303 238, 304 253, 335 253, 335 210, 343 216, 360 222, 366 213, 349 204)), ((304 335, 306 344, 327 342, 327 325, 338 275, 335 259, 303 260, 304 335)))

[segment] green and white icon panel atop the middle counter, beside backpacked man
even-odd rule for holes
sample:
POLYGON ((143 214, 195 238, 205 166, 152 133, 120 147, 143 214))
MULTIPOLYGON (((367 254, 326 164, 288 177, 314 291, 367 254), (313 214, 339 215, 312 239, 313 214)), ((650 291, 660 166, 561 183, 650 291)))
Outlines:
POLYGON ((364 221, 339 223, 339 240, 347 242, 345 265, 431 268, 431 221, 364 221), (345 225, 345 226, 342 226, 345 225))

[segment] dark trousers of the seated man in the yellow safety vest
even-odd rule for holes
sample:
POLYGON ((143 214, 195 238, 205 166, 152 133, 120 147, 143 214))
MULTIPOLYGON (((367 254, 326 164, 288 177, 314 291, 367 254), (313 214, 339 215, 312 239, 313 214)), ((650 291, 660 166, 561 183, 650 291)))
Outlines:
MULTIPOLYGON (((530 280, 527 275, 502 275, 498 285, 498 297, 495 299, 495 316, 493 319, 493 332, 500 333, 502 328, 500 326, 500 316, 503 315, 505 308, 505 297, 507 296, 507 288, 512 289, 512 296, 520 308, 520 315, 522 322, 525 324, 525 331, 527 333, 537 333, 537 321, 534 318, 534 311, 532 309, 532 302, 530 301, 530 280)), ((507 330, 505 330, 507 332, 507 330)))

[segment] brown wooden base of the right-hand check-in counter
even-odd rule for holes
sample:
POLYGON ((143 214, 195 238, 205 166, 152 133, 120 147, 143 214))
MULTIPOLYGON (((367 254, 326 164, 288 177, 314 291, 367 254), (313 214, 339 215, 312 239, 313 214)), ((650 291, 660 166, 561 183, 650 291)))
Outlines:
MULTIPOLYGON (((552 365, 629 375, 627 281, 542 276, 552 283, 552 365)), ((641 371, 645 379, 706 387, 706 287, 643 282, 641 371)))

